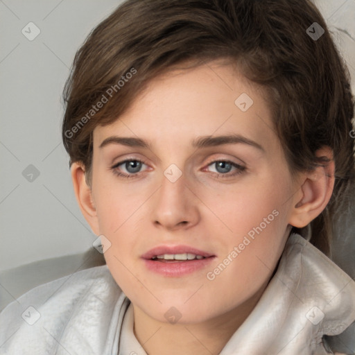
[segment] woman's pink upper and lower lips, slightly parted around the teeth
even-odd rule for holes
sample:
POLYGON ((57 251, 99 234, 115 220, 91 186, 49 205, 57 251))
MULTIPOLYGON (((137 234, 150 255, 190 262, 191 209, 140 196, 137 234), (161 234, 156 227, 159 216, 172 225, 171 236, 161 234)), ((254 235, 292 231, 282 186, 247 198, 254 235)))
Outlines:
POLYGON ((182 277, 189 275, 193 272, 207 268, 212 260, 216 258, 216 255, 209 254, 196 248, 191 248, 188 245, 161 245, 153 248, 143 254, 141 258, 144 260, 146 268, 148 270, 163 275, 164 277, 182 277), (189 261, 155 261, 153 257, 162 254, 183 254, 190 253, 196 255, 202 255, 205 259, 194 259, 189 261))

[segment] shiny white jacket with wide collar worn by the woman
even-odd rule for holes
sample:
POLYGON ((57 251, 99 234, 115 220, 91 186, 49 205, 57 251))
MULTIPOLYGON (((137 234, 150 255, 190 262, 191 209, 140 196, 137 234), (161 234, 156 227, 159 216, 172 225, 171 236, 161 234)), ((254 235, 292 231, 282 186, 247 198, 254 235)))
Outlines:
MULTIPOLYGON (((330 347, 355 354, 355 282, 291 234, 266 291, 220 355, 333 354, 330 347)), ((98 266, 33 288, 3 309, 0 354, 146 352, 133 334, 130 301, 98 266)))

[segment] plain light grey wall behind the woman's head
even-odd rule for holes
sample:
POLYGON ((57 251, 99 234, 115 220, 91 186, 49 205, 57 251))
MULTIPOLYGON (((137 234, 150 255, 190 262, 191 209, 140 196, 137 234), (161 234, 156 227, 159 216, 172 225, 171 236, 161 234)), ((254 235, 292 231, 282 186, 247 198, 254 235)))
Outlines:
MULTIPOLYGON (((73 195, 60 100, 76 50, 119 3, 0 0, 0 270, 84 252, 96 239, 73 195), (33 41, 21 33, 29 22, 41 31, 33 41)), ((315 3, 355 78, 355 0, 315 3)))

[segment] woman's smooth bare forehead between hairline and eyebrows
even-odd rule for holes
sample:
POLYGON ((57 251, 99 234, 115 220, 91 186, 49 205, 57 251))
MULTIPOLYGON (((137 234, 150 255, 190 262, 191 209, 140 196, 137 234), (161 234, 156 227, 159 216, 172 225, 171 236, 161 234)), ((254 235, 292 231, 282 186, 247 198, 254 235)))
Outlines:
POLYGON ((231 133, 265 145, 277 139, 263 92, 230 65, 214 62, 151 80, 119 119, 94 130, 94 146, 112 135, 171 146, 231 133))

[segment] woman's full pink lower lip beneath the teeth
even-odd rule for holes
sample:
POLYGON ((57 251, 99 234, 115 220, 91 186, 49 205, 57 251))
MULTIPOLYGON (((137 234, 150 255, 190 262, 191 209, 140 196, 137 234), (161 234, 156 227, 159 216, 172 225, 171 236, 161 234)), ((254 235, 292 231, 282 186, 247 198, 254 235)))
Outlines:
POLYGON ((162 262, 162 261, 153 261, 151 259, 144 259, 146 267, 153 271, 157 272, 160 275, 166 277, 181 277, 184 275, 192 274, 195 271, 201 270, 209 266, 211 261, 215 257, 208 257, 205 259, 195 259, 189 261, 174 261, 174 262, 162 262))

